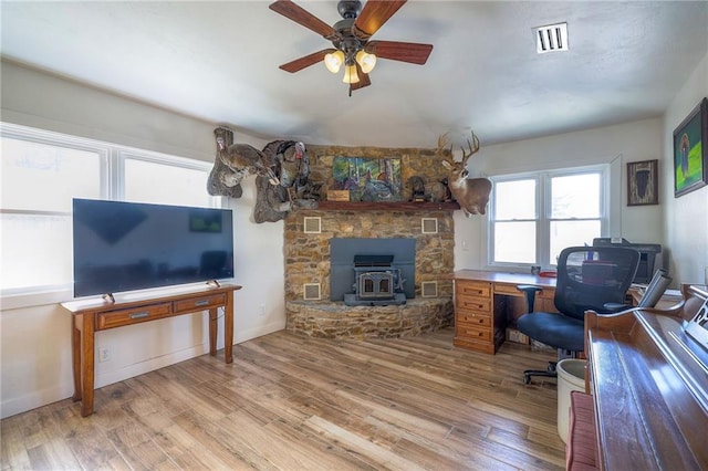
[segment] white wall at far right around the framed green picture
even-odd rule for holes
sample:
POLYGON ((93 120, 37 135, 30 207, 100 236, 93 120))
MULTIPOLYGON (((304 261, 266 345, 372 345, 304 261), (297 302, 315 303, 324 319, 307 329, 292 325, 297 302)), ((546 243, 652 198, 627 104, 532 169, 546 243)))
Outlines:
MULTIPOLYGON (((673 136, 674 129, 708 96, 708 54, 674 97, 667 108, 662 136, 666 166, 663 185, 666 188, 664 231, 671 248, 670 271, 683 283, 708 283, 708 187, 674 198, 673 136)), ((708 149, 704 143, 704 153, 708 149)))

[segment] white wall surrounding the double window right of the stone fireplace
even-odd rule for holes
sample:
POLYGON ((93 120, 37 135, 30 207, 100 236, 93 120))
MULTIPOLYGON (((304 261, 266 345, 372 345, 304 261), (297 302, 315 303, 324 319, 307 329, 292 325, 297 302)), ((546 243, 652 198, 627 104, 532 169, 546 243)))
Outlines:
MULTIPOLYGON (((506 175, 611 164, 610 211, 618 223, 610 228, 607 236, 666 245, 664 208, 673 198, 673 187, 659 181, 659 205, 628 207, 626 181, 626 164, 631 161, 658 159, 659 172, 670 167, 670 161, 668 165, 664 163, 662 129, 662 119, 655 118, 482 147, 470 160, 470 175, 506 175)), ((465 220, 458 212, 455 219, 455 266, 457 270, 485 269, 487 224, 483 217, 465 220)))

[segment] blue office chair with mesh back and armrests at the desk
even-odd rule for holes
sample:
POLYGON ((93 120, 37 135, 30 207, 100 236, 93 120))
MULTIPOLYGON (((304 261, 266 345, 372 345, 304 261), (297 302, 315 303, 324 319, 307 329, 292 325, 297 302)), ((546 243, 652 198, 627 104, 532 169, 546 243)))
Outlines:
MULTIPOLYGON (((558 313, 534 312, 535 292, 541 289, 519 285, 525 293, 528 312, 517 322, 519 332, 559 350, 561 357, 576 357, 585 348, 585 311, 608 312, 607 303, 622 304, 639 264, 639 252, 627 247, 570 247, 558 261, 553 304, 558 313)), ((531 376, 556 377, 555 362, 545 370, 523 371, 531 376)))

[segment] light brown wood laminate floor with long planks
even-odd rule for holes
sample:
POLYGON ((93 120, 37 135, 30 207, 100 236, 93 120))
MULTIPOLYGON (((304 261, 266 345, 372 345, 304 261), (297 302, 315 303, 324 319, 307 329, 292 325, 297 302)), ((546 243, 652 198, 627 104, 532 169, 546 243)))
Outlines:
POLYGON ((327 341, 278 332, 1 421, 3 470, 561 470, 553 359, 452 329, 327 341))

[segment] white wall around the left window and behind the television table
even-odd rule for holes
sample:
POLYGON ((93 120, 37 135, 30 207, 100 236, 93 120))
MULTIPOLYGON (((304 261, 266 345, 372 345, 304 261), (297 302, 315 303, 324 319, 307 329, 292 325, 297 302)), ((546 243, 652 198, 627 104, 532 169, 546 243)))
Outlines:
MULTIPOLYGON (((3 122, 214 161, 215 123, 4 61, 0 81, 3 122)), ((239 143, 258 148, 266 144, 235 130, 239 143)), ((287 136, 275 138, 282 137, 287 136)), ((236 343, 282 329, 285 324, 283 227, 282 222, 254 223, 254 200, 251 177, 243 185, 243 196, 228 201, 235 220, 235 279, 243 286, 235 295, 236 343)), ((65 292, 1 300, 2 417, 73 394, 71 316, 58 304, 70 299, 71 293, 65 292)), ((222 324, 219 328, 222 332, 222 324)), ((111 348, 112 359, 96 363, 96 387, 207 353, 206 315, 105 331, 97 334, 96 350, 104 346, 111 348)))

